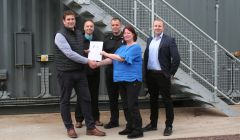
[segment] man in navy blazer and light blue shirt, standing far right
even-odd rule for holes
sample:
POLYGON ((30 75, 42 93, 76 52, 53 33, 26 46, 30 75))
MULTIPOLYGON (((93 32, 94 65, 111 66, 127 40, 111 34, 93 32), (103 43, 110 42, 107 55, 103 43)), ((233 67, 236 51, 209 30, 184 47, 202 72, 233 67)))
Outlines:
POLYGON ((147 40, 147 47, 144 53, 144 68, 150 94, 150 124, 143 128, 143 131, 157 130, 158 121, 158 96, 162 96, 166 110, 165 130, 163 135, 172 134, 174 120, 173 103, 170 94, 171 77, 176 73, 180 64, 175 39, 163 33, 164 23, 157 19, 154 21, 154 37, 147 40))

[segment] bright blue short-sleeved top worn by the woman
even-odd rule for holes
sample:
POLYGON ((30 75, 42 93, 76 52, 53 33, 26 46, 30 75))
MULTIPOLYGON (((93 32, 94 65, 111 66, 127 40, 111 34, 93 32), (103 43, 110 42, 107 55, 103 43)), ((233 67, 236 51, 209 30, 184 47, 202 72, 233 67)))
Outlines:
POLYGON ((142 81, 142 50, 139 44, 122 45, 115 54, 125 61, 113 60, 113 81, 142 81))

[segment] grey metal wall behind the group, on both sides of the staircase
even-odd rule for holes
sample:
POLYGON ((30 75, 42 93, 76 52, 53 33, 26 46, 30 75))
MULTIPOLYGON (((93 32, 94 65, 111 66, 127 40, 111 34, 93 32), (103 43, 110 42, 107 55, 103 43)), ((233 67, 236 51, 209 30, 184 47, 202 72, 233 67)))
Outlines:
MULTIPOLYGON (((168 0, 176 9, 215 38, 215 0, 168 0)), ((220 0, 219 42, 228 50, 239 49, 239 0, 220 0)), ((38 56, 53 54, 54 34, 61 26, 65 7, 60 0, 0 0, 0 70, 8 71, 7 91, 12 97, 36 97, 41 93, 41 67, 49 67, 50 93, 58 95, 53 62, 41 63, 38 56), (31 37, 28 53, 15 43, 18 35, 31 37), (15 51, 17 48, 17 51, 15 51), (32 52, 32 53, 29 53, 32 52), (26 60, 15 60, 19 55, 26 60), (30 59, 29 59, 30 58, 30 59), (26 63, 25 63, 26 61, 26 63)))

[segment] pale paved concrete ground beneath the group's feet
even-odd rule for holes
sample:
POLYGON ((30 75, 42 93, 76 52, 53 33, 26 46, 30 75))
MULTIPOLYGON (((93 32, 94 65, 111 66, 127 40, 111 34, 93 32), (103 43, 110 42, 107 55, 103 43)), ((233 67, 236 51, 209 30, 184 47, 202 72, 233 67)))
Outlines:
MULTIPOLYGON (((240 111, 239 105, 232 106, 240 111)), ((143 126, 149 122, 149 110, 141 110, 143 126)), ((164 109, 160 109, 158 130, 144 133, 139 140, 240 140, 240 116, 226 117, 213 108, 185 107, 175 109, 173 135, 162 136, 165 120, 164 109)), ((109 112, 101 112, 101 121, 107 123, 109 112)), ((124 129, 124 117, 121 112, 120 127, 106 130, 106 137, 87 136, 86 127, 76 129, 82 140, 124 140, 118 135, 124 129)), ((59 113, 0 115, 0 140, 69 140, 59 113)))

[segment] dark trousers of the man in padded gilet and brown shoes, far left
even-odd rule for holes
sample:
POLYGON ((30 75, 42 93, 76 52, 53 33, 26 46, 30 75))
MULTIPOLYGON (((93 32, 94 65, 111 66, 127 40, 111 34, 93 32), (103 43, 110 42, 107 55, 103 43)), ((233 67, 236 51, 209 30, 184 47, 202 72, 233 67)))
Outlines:
POLYGON ((81 109, 85 118, 87 129, 95 128, 92 118, 91 97, 85 72, 71 71, 58 72, 58 82, 60 84, 60 111, 63 123, 67 129, 73 128, 70 114, 70 96, 74 88, 77 96, 80 97, 81 109))

